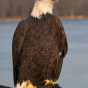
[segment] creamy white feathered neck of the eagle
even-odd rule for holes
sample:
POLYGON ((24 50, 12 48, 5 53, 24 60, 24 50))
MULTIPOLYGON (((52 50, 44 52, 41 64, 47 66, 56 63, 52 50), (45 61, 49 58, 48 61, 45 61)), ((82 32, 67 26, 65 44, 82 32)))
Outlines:
POLYGON ((41 18, 45 14, 53 14, 53 1, 51 0, 40 0, 34 4, 31 16, 34 18, 41 18))

